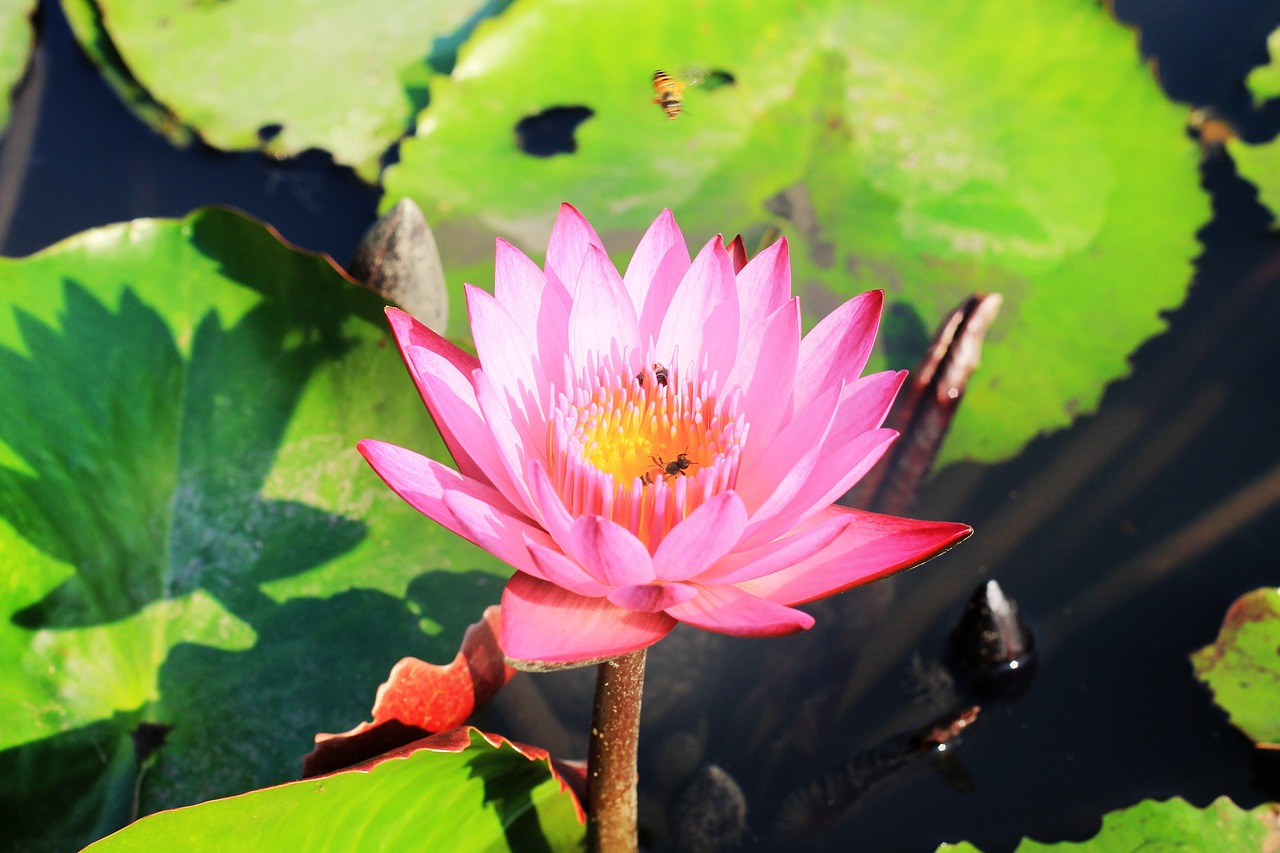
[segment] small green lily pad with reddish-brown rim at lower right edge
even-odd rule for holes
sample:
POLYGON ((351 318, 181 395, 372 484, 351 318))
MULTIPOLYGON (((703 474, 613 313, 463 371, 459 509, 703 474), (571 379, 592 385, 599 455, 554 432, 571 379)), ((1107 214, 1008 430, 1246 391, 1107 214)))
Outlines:
POLYGON ((1192 665, 1236 729, 1254 743, 1280 744, 1280 590, 1238 598, 1192 665))

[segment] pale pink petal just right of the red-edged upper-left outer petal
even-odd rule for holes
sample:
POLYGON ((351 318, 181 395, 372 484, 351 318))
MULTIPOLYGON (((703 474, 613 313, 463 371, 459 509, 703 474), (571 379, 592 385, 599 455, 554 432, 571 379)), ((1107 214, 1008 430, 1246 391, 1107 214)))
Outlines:
POLYGON ((471 284, 466 284, 465 291, 471 337, 485 375, 507 393, 526 423, 545 423, 550 384, 539 366, 532 342, 498 300, 471 284))

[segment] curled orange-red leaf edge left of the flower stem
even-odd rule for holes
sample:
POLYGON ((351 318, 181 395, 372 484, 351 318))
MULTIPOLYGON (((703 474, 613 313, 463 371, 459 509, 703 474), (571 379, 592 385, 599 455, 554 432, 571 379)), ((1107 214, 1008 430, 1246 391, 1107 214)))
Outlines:
POLYGON ((342 734, 317 734, 316 748, 302 760, 302 775, 316 776, 381 756, 422 735, 462 725, 502 689, 516 670, 498 646, 498 607, 471 625, 448 666, 402 658, 378 688, 372 722, 342 734))

